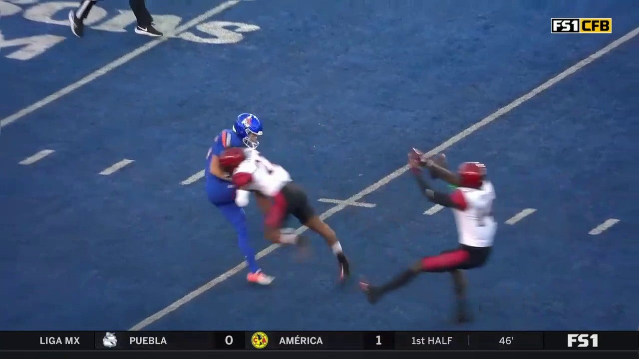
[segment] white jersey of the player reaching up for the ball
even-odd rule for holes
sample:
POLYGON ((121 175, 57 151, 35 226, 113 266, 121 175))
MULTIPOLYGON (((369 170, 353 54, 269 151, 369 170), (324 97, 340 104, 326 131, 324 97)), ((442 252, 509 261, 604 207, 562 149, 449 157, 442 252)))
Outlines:
POLYGON ((470 247, 491 247, 497 232, 497 222, 493 218, 493 184, 484 181, 479 189, 459 187, 457 190, 466 201, 466 210, 452 211, 459 233, 459 243, 470 247))

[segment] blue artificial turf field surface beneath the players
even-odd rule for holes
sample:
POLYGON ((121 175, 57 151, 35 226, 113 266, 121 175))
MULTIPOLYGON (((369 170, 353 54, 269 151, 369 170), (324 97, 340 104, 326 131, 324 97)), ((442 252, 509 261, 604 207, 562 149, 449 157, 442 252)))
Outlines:
MULTIPOLYGON (((150 41, 131 26, 88 29, 77 39, 60 3, 0 2, 0 118, 150 41), (44 40, 32 36, 45 34, 59 41, 40 54, 15 54, 12 40, 30 38, 24 43, 37 49, 44 40)), ((164 29, 222 2, 180 4, 148 1, 164 29)), ((3 125, 0 330, 126 330, 240 263, 203 180, 180 184, 201 170, 212 137, 240 112, 263 119, 261 151, 313 201, 347 199, 404 165, 412 146, 435 148, 639 19, 639 8, 623 0, 224 4, 187 29, 191 35, 3 125), (551 17, 612 17, 613 33, 551 34, 551 17), (220 22, 252 31, 209 41, 227 43, 193 40, 212 39, 202 29, 220 22), (43 149, 54 152, 19 164, 43 149), (99 174, 124 158, 134 162, 99 174)), ((128 9, 126 1, 99 6, 98 28, 128 9)), ((639 326, 639 226, 631 216, 639 201, 638 56, 633 38, 445 151, 451 164, 486 163, 498 195, 494 255, 468 273, 475 322, 463 328, 639 326), (536 211, 504 224, 526 208, 536 211), (619 222, 589 234, 609 218, 619 222)), ((431 206, 417 194, 403 175, 360 199, 374 208, 348 206, 327 220, 356 278, 386 280, 456 244, 449 211, 424 215, 431 206)), ((315 206, 322 213, 335 204, 315 206)), ((252 243, 265 248, 261 219, 253 206, 249 213, 252 243)), ((422 275, 373 307, 355 282, 335 286, 334 258, 312 238, 316 256, 306 263, 286 249, 261 259, 277 277, 272 287, 250 287, 242 270, 145 328, 458 328, 449 323, 448 275, 422 275)))

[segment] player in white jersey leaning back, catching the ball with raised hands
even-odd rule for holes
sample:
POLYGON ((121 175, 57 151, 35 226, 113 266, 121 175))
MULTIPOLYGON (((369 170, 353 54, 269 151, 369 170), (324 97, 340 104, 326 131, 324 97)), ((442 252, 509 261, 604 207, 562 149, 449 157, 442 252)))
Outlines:
POLYGON ((447 250, 436 256, 423 257, 408 270, 381 286, 372 286, 366 281, 360 282, 360 288, 366 293, 370 303, 376 303, 383 294, 408 284, 419 273, 449 272, 455 287, 457 298, 456 320, 470 321, 466 302, 466 281, 462 270, 483 266, 490 256, 493 238, 497 231, 497 222, 492 214, 495 190, 486 179, 486 166, 479 162, 464 162, 459 165, 458 175, 445 168, 445 157, 424 158, 422 153, 409 154, 411 170, 417 179, 420 192, 429 201, 451 208, 457 224, 459 247, 447 250), (452 194, 433 190, 420 167, 427 167, 433 178, 442 178, 457 186, 452 194))

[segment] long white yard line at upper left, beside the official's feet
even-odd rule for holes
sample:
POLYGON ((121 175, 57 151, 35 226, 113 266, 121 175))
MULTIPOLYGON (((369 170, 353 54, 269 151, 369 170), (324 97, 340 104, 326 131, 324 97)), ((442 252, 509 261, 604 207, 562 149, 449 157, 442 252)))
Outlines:
POLYGON ((27 114, 30 114, 31 112, 36 111, 37 109, 40 109, 40 107, 43 107, 45 105, 48 105, 51 102, 54 102, 55 100, 58 100, 58 98, 65 96, 66 94, 74 91, 75 89, 81 88, 82 86, 97 79, 98 77, 105 75, 106 73, 110 72, 111 70, 114 70, 115 68, 118 68, 119 66, 127 63, 128 61, 131 61, 135 57, 141 54, 144 54, 144 52, 147 52, 148 50, 153 49, 153 47, 156 47, 160 43, 169 40, 169 38, 173 37, 174 35, 189 29, 189 27, 197 25, 199 22, 202 22, 208 19, 209 17, 212 17, 213 15, 216 15, 228 8, 231 8, 231 6, 237 3, 240 3, 240 0, 225 1, 222 4, 215 6, 215 8, 212 8, 211 10, 206 11, 202 15, 199 15, 198 17, 196 17, 195 19, 190 20, 189 22, 185 22, 182 26, 176 27, 173 33, 166 33, 162 37, 155 38, 155 40, 151 40, 150 42, 145 43, 144 45, 142 45, 141 47, 138 47, 132 52, 129 52, 128 54, 125 54, 122 57, 119 57, 119 59, 111 61, 111 63, 108 63, 102 68, 98 68, 98 70, 95 70, 94 72, 89 73, 89 75, 86 75, 85 77, 78 80, 77 82, 73 82, 73 84, 70 84, 66 86, 65 88, 59 89, 55 93, 52 93, 51 95, 43 98, 42 100, 35 102, 32 105, 25 107, 24 109, 18 112, 15 112, 15 114, 12 114, 11 116, 3 118, 0 121, 0 128, 3 128, 6 125, 10 125, 11 123, 26 116, 27 114))

